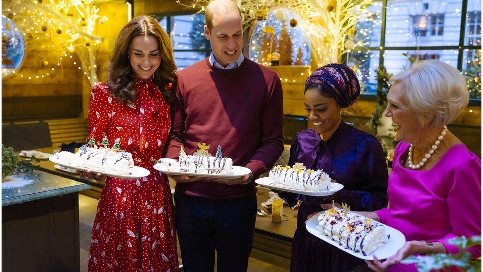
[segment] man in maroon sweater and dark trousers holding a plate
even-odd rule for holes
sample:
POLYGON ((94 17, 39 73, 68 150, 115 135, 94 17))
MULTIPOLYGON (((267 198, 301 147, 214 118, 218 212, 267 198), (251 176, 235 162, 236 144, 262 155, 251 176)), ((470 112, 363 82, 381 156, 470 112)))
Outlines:
POLYGON ((185 271, 246 271, 256 218, 254 180, 283 150, 280 78, 241 54, 241 14, 230 0, 206 8, 205 36, 211 56, 178 73, 177 99, 166 157, 180 146, 193 154, 198 142, 252 174, 239 179, 170 176, 177 181, 176 226, 185 271))

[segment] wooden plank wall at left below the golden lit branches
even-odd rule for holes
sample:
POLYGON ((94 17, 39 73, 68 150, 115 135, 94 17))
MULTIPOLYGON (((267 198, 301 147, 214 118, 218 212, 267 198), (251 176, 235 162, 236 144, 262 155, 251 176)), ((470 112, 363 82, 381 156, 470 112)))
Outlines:
POLYGON ((27 52, 20 70, 2 80, 2 120, 80 117, 83 74, 73 64, 79 63, 77 55, 72 55, 64 56, 60 68, 49 51, 27 52), (42 65, 44 60, 48 62, 46 67, 42 65))

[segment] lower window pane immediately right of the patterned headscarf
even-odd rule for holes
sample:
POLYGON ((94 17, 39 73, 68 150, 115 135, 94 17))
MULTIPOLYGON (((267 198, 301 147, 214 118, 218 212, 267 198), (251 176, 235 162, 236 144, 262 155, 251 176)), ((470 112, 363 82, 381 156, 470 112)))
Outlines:
POLYGON ((357 74, 363 94, 376 94, 375 70, 379 68, 379 50, 352 51, 347 55, 347 65, 357 74))

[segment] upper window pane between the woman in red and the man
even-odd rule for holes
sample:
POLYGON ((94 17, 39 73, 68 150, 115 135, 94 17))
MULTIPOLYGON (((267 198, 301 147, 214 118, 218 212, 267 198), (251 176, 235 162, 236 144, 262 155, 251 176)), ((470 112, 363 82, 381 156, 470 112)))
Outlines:
POLYGON ((173 49, 206 49, 204 14, 171 17, 173 49))

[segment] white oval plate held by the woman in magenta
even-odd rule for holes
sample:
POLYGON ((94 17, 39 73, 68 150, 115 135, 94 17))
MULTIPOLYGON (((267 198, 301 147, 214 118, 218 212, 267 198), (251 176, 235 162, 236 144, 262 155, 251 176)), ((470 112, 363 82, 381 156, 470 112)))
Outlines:
MULTIPOLYGON (((386 229, 386 234, 391 235, 389 237, 389 241, 384 244, 382 247, 374 250, 373 252, 369 253, 367 256, 364 256, 362 253, 355 252, 353 250, 350 250, 348 248, 344 248, 343 246, 339 246, 339 242, 332 240, 331 237, 326 236, 320 232, 320 230, 317 229, 317 225, 319 224, 319 215, 325 213, 326 211, 322 211, 320 213, 315 214, 313 217, 307 220, 305 223, 305 228, 307 228, 307 231, 310 232, 311 234, 315 235, 317 238, 320 238, 324 240, 325 242, 337 247, 338 249, 341 249, 351 255, 354 255, 357 258, 364 259, 364 260, 373 260, 374 258, 372 257, 373 255, 376 255, 376 257, 379 260, 386 259, 387 257, 390 257, 404 245, 406 242, 406 238, 404 235, 397 229, 392 228, 390 226, 384 225, 386 229)), ((349 215, 353 212, 349 212, 349 215)))

